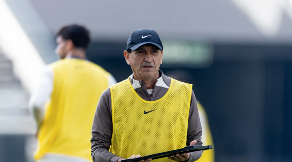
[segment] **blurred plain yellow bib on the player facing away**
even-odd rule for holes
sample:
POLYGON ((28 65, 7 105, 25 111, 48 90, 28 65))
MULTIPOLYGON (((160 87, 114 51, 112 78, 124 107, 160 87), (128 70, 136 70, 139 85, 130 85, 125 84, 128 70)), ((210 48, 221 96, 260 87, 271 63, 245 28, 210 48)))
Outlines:
POLYGON ((35 159, 57 153, 91 159, 91 127, 98 99, 108 87, 107 73, 81 59, 51 64, 54 88, 38 134, 35 159))

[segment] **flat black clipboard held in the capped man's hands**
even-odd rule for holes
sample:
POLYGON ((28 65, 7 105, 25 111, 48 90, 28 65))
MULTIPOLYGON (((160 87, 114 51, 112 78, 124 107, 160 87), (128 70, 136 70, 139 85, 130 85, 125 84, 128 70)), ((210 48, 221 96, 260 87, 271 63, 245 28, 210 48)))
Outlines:
POLYGON ((145 159, 149 159, 149 158, 152 158, 152 160, 154 160, 154 159, 168 157, 168 156, 171 156, 173 154, 183 154, 183 153, 200 151, 200 150, 204 151, 204 150, 208 150, 208 149, 212 149, 212 145, 208 145, 208 146, 193 145, 193 146, 184 147, 182 149, 176 149, 176 150, 172 150, 172 151, 167 151, 167 152, 161 152, 161 153, 157 153, 157 154, 142 156, 140 158, 124 159, 121 162, 136 162, 136 161, 139 161, 139 160, 145 160, 145 159))

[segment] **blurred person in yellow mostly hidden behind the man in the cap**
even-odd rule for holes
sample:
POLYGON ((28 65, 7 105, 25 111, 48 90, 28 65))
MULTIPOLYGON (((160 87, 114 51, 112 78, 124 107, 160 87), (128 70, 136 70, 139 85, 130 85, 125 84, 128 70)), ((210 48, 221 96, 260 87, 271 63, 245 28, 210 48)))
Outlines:
MULTIPOLYGON (((166 73, 166 75, 169 76, 170 78, 179 80, 181 82, 192 83, 192 84, 194 83, 192 76, 189 73, 182 70, 169 71, 168 73, 166 73)), ((193 87, 195 88, 195 84, 193 84, 193 87)), ((198 100, 197 100, 197 105, 198 105, 199 116, 200 116, 200 121, 202 125, 203 145, 214 146, 211 131, 208 124, 207 114, 204 110, 204 107, 199 103, 198 100)), ((197 162, 213 162, 214 160, 215 160, 215 150, 211 149, 211 150, 203 152, 201 158, 197 160, 197 162)))

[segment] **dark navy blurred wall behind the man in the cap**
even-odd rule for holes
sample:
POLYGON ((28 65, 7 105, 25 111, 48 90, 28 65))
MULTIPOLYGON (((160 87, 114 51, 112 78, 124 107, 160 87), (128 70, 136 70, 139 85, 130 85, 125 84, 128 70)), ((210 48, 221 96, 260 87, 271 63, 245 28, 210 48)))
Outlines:
MULTIPOLYGON (((196 98, 208 114, 215 159, 217 162, 292 160, 292 62, 265 59, 265 46, 251 48, 256 50, 244 47, 215 46, 211 67, 181 69, 194 78, 196 98), (228 52, 236 52, 237 48, 237 53, 245 50, 259 56, 227 57, 228 52)), ((123 57, 124 48, 121 44, 96 43, 89 50, 88 59, 112 73, 119 82, 132 74, 123 57)), ((282 48, 273 49, 268 50, 272 57, 271 51, 277 53, 282 48)), ((177 68, 161 66, 164 73, 174 69, 177 68)))

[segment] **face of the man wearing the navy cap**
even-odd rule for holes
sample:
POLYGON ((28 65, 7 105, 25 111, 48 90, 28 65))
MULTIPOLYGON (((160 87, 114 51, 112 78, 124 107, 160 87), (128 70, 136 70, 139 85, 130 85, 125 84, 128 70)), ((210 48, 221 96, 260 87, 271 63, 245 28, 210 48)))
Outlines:
POLYGON ((135 79, 145 80, 158 75, 163 51, 155 45, 146 44, 131 53, 125 51, 124 56, 127 63, 131 65, 135 79))

